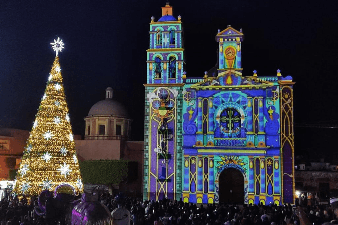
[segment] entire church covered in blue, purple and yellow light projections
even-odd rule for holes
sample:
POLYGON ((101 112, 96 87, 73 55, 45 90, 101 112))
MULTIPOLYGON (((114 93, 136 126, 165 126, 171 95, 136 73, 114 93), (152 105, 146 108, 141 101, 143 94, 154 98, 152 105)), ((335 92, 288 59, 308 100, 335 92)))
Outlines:
POLYGON ((144 199, 294 203, 292 77, 242 76, 244 35, 228 26, 216 35, 216 67, 187 78, 169 4, 149 34, 144 199))

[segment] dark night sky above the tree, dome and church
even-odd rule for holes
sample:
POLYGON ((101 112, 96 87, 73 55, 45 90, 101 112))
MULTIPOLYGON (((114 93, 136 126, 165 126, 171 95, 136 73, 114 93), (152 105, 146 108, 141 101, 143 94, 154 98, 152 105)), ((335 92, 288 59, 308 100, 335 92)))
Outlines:
MULTIPOLYGON (((217 29, 243 29, 244 76, 291 75, 295 153, 337 155, 338 14, 335 1, 170 1, 182 16, 187 77, 216 64, 217 29), (315 4, 316 2, 316 4, 315 4), (322 128, 322 126, 335 128, 322 128)), ((59 36, 64 88, 75 134, 105 88, 123 103, 132 140, 143 140, 146 49, 151 16, 165 1, 0 1, 0 125, 31 130, 59 36)))

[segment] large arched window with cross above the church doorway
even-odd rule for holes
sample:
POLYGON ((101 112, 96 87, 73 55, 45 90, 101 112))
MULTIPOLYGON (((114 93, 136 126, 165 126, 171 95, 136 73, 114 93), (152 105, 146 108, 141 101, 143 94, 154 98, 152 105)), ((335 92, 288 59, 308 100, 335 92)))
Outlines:
POLYGON ((219 120, 221 137, 241 137, 241 114, 235 108, 224 109, 219 120))

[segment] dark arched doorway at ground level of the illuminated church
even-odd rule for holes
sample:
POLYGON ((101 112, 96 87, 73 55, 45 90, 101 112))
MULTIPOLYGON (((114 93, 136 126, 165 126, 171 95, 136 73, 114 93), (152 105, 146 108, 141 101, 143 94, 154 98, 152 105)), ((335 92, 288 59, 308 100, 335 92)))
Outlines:
POLYGON ((224 169, 218 177, 219 203, 244 203, 244 177, 235 168, 224 169))

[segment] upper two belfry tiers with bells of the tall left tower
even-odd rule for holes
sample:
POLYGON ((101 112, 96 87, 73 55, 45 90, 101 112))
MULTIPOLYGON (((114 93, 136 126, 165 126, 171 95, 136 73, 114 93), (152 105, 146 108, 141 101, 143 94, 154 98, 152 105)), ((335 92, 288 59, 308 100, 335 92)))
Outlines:
POLYGON ((173 8, 162 7, 162 17, 151 17, 147 50, 147 84, 183 82, 183 43, 181 17, 173 16, 173 8))

